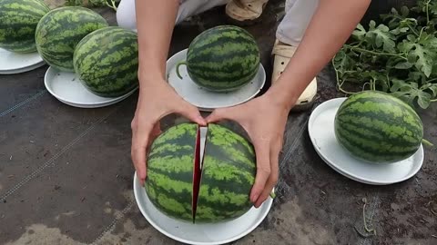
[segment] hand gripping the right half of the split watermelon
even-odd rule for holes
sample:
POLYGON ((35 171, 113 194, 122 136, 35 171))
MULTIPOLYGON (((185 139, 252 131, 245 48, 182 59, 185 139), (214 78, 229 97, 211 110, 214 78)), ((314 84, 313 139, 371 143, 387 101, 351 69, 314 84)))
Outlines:
POLYGON ((209 114, 207 122, 231 120, 248 132, 257 157, 257 174, 250 191, 250 201, 256 208, 266 201, 279 177, 279 152, 282 149, 287 106, 277 103, 268 93, 248 103, 219 108, 209 114))

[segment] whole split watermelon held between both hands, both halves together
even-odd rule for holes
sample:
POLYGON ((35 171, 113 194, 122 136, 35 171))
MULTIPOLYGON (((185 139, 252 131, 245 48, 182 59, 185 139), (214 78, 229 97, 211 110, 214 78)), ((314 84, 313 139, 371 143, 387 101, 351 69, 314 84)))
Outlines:
POLYGON ((147 155, 147 197, 161 212, 178 220, 215 223, 249 211, 255 181, 252 144, 219 124, 209 124, 203 157, 200 131, 185 122, 169 128, 147 155))

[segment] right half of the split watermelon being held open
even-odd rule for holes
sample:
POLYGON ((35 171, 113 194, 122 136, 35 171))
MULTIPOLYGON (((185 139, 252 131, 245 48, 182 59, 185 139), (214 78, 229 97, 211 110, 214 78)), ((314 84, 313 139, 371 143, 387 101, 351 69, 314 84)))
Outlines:
POLYGON ((208 124, 196 222, 225 222, 249 211, 256 171, 255 151, 248 140, 225 126, 208 124))

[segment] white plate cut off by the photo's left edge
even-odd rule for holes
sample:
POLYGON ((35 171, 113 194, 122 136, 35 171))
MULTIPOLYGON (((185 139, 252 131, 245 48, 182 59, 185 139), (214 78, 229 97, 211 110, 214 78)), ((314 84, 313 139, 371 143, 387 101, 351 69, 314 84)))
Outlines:
POLYGON ((37 53, 17 54, 0 48, 0 74, 25 73, 46 64, 37 53))

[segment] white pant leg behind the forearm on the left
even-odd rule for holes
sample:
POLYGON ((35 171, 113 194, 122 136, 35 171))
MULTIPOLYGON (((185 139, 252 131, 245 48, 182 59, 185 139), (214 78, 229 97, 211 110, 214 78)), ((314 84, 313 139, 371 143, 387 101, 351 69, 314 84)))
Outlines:
MULTIPOLYGON (((136 0, 121 0, 117 7, 117 25, 127 29, 137 30, 135 12, 136 0)), ((147 1, 147 0, 142 0, 147 1)), ((167 1, 167 0, 163 0, 167 1)), ((175 25, 178 25, 192 15, 198 15, 215 6, 226 5, 229 0, 180 0, 175 25)), ((157 20, 158 21, 158 20, 157 20)))

